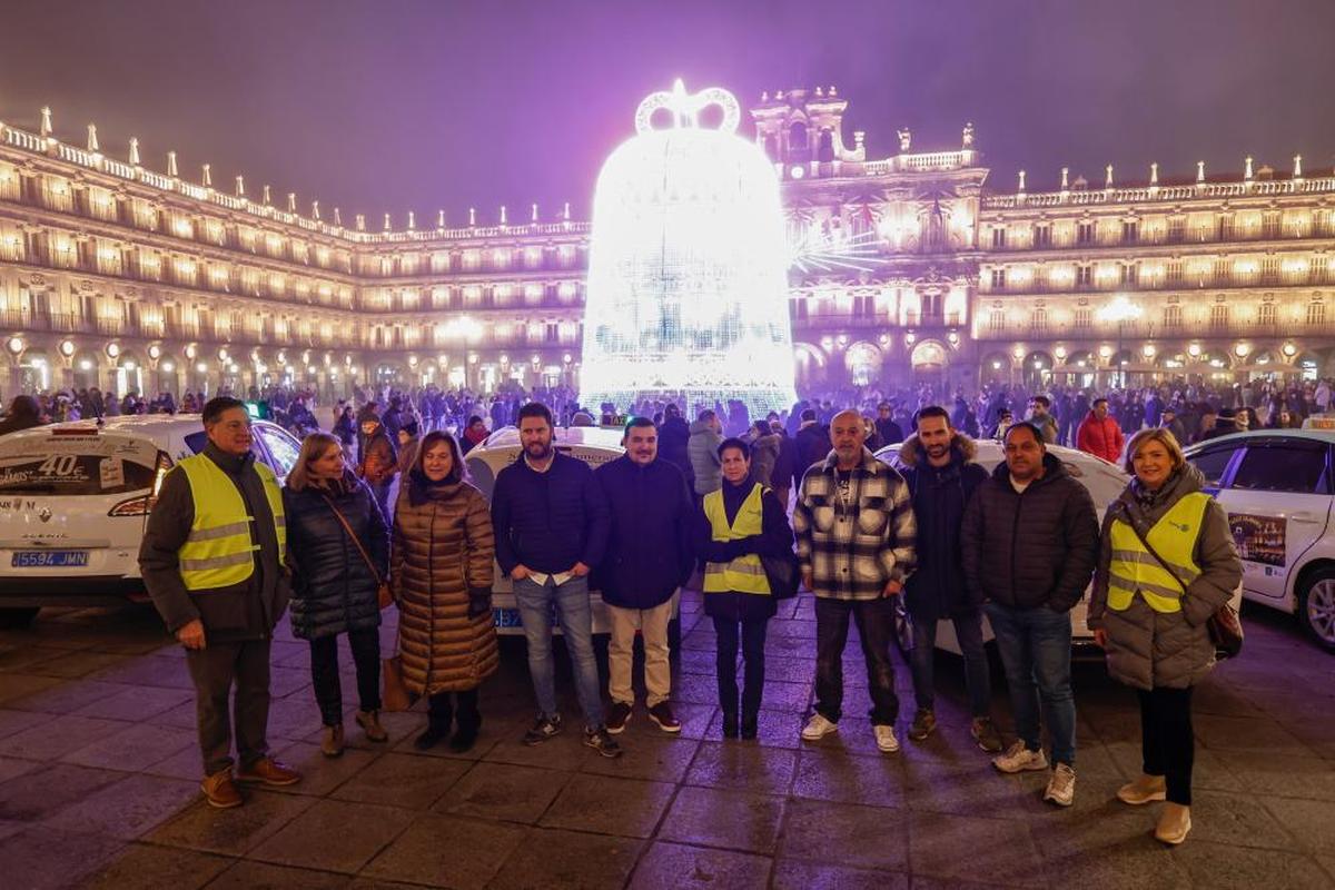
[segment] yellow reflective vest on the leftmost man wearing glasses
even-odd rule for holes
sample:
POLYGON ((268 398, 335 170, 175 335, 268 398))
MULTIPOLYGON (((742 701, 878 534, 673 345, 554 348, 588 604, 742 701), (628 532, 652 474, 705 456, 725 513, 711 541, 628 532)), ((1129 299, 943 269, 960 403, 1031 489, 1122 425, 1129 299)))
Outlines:
MULTIPOLYGON (((264 483, 264 496, 274 514, 278 564, 282 566, 287 551, 283 492, 272 470, 259 462, 254 466, 264 483)), ((207 455, 186 458, 176 467, 190 480, 190 494, 195 502, 195 522, 179 551, 180 578, 186 582, 186 590, 203 592, 242 583, 255 571, 255 551, 259 550, 250 530, 255 518, 246 512, 242 492, 207 455)))

